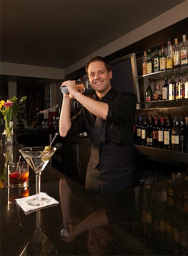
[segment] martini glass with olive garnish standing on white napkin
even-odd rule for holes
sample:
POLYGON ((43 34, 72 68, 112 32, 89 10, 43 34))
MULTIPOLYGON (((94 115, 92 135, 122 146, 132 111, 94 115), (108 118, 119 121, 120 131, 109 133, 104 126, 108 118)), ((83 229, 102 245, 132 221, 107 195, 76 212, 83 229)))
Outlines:
POLYGON ((49 203, 49 199, 40 196, 41 172, 45 169, 49 160, 51 160, 56 149, 56 147, 50 146, 48 146, 48 150, 45 150, 44 147, 24 147, 19 149, 23 158, 26 159, 36 175, 36 196, 27 201, 28 205, 43 207, 49 203))

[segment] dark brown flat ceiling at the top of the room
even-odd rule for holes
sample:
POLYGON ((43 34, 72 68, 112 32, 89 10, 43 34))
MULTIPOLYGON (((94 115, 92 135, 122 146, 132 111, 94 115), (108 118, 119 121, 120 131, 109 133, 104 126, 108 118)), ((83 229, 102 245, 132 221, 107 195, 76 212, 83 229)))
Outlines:
POLYGON ((1 61, 66 68, 185 0, 1 0, 1 61))

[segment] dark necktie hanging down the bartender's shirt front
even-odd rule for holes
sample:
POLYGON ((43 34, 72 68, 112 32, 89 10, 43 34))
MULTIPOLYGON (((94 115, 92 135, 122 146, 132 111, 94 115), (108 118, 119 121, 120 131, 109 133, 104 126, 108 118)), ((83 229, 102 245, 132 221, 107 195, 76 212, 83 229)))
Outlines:
POLYGON ((99 117, 95 119, 95 125, 92 135, 91 144, 91 160, 93 168, 97 167, 99 164, 99 154, 100 154, 100 137, 102 131, 103 120, 99 117))

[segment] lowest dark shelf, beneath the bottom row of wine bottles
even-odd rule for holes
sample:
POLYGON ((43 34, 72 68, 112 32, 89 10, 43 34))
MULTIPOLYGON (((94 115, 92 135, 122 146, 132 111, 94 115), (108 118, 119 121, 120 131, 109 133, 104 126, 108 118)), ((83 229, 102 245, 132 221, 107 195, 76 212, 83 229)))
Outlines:
POLYGON ((163 160, 163 162, 188 164, 188 150, 174 151, 140 145, 135 145, 135 147, 137 156, 147 155, 149 158, 160 159, 160 161, 163 160))

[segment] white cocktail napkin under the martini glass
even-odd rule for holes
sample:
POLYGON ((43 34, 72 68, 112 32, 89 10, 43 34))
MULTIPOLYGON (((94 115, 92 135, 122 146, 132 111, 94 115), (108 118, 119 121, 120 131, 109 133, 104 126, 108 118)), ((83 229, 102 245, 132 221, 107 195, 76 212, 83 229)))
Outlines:
POLYGON ((56 199, 54 199, 53 197, 51 196, 48 196, 47 193, 45 192, 40 192, 40 196, 41 197, 46 197, 48 198, 50 201, 48 204, 45 204, 43 205, 42 207, 41 206, 32 206, 32 205, 28 205, 27 204, 27 201, 34 198, 36 195, 32 195, 32 196, 27 196, 27 197, 22 197, 22 198, 18 198, 18 199, 15 199, 16 203, 22 208, 22 210, 24 212, 30 212, 30 211, 35 211, 37 209, 41 209, 41 208, 46 208, 46 207, 49 207, 49 206, 52 206, 52 205, 56 205, 56 204, 59 204, 59 201, 57 201, 56 199))

